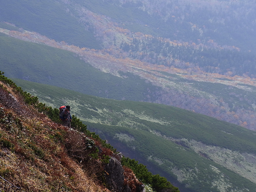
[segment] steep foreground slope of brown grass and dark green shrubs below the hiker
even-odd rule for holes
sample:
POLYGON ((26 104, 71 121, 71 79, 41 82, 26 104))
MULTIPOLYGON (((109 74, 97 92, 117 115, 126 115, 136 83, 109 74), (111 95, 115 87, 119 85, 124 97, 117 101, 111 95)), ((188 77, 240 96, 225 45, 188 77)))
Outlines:
MULTIPOLYGON (((115 148, 88 131, 74 115, 73 129, 62 126, 59 109, 39 102, 38 97, 17 87, 1 71, 0 84, 1 191, 94 192, 111 191, 111 185, 117 185, 106 181, 109 174, 118 174, 117 171, 105 170, 110 157, 121 158, 115 148)), ((124 159, 133 162, 133 166, 138 164, 124 159)), ((139 191, 141 182, 129 168, 132 166, 123 163, 123 167, 123 185, 128 186, 128 191, 139 191)), ((149 191, 178 192, 166 178, 153 175, 143 167, 137 177, 149 191)))

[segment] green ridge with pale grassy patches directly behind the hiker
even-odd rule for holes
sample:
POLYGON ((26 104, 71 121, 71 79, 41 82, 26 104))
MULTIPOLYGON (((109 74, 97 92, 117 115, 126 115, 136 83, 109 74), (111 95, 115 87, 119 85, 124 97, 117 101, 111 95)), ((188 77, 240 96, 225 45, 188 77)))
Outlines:
POLYGON ((172 106, 117 101, 16 79, 53 107, 72 106, 89 131, 182 192, 254 191, 254 131, 172 106), (65 101, 65 102, 64 102, 65 101))

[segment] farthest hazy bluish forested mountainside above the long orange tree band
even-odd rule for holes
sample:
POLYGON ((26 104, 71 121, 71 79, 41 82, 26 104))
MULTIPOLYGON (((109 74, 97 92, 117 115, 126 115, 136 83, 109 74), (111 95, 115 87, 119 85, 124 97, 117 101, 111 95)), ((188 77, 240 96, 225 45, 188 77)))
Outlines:
POLYGON ((100 45, 117 58, 254 77, 253 1, 207 2, 11 0, 0 19, 56 41, 100 45))

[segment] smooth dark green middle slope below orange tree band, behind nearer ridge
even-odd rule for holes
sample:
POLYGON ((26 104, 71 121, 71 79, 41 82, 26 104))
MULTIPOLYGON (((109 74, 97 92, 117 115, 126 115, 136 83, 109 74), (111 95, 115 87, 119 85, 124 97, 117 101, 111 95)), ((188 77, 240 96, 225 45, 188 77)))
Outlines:
POLYGON ((120 72, 120 77, 93 68, 72 53, 0 35, 0 69, 9 78, 20 78, 113 98, 147 101, 155 90, 139 76, 120 72), (151 91, 151 93, 148 93, 151 91))

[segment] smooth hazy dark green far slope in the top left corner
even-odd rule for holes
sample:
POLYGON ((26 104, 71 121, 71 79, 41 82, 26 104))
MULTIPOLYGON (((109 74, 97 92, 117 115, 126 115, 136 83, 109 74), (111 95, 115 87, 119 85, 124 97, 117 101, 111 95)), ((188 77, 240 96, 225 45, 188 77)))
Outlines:
POLYGON ((56 41, 99 49, 92 31, 84 30, 58 1, 1 1, 0 20, 15 23, 21 30, 37 31, 56 41))

